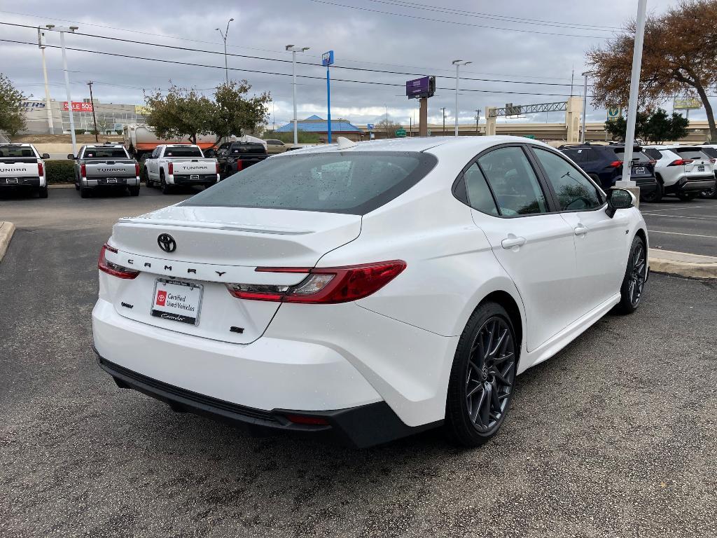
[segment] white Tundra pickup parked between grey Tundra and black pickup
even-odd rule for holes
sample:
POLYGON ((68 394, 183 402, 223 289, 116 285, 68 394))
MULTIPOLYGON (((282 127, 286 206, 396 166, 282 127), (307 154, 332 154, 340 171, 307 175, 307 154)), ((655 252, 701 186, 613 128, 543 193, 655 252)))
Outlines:
POLYGON ((144 161, 143 178, 147 187, 158 185, 168 194, 174 185, 204 185, 219 181, 217 159, 201 153, 199 146, 162 144, 144 161))

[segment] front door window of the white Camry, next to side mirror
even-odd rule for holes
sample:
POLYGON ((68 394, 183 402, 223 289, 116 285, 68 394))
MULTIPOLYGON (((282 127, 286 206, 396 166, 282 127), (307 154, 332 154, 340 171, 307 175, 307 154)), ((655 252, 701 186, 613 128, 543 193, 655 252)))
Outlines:
POLYGON ((602 206, 602 197, 575 166, 552 151, 533 147, 558 197, 561 211, 584 211, 602 206))

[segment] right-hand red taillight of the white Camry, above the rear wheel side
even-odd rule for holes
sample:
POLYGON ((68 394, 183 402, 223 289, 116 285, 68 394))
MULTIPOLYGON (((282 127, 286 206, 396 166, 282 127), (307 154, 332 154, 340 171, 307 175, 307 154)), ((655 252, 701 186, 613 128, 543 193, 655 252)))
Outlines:
POLYGON ((406 268, 406 262, 349 265, 332 268, 260 267, 262 273, 306 273, 295 285, 227 284, 232 296, 254 301, 334 304, 358 301, 379 291, 406 268))

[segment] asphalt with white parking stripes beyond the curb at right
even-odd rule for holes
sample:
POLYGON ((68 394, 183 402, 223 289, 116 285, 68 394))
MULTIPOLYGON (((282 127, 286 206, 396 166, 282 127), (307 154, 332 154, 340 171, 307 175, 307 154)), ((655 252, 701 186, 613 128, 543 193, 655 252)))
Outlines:
POLYGON ((666 196, 657 204, 640 204, 650 232, 650 247, 717 256, 717 199, 683 202, 666 196))

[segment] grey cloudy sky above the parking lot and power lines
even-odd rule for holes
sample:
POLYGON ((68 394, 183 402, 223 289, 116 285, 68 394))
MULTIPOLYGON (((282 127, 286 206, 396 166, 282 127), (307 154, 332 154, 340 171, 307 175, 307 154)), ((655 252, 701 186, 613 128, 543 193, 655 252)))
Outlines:
MULTIPOLYGON (((659 14, 676 3, 650 0, 648 9, 659 14)), ((303 75, 297 84, 299 118, 326 117, 326 70, 320 56, 333 49, 333 118, 371 123, 385 117, 387 109, 394 121, 408 124, 409 118, 417 118, 417 100, 405 97, 405 81, 436 75, 440 89, 429 100, 429 122, 440 123, 445 107, 446 121, 452 123, 451 62, 462 59, 473 63, 461 70, 459 119, 475 122, 475 109, 480 109, 483 123, 485 106, 564 100, 571 94, 573 70, 573 93, 581 95, 585 52, 609 39, 636 13, 637 0, 447 0, 433 6, 427 0, 0 3, 0 22, 75 25, 78 32, 98 36, 67 36, 67 47, 88 51, 69 50, 67 62, 72 100, 89 97, 85 83, 94 80, 95 99, 103 103, 141 104, 143 89, 167 88, 170 81, 210 95, 225 76, 223 42, 216 28, 224 29, 234 18, 227 39, 229 77, 246 78, 253 90, 271 93, 270 125, 277 126, 292 117, 286 44, 310 47, 297 55, 303 62, 297 65, 297 74, 303 75)), ((0 70, 26 95, 42 98, 37 30, 6 24, 0 28, 0 39, 34 43, 0 42, 0 70)), ((47 44, 59 44, 59 35, 49 33, 47 44)), ((47 67, 52 98, 66 100, 58 49, 47 49, 47 67)), ((701 112, 694 110, 690 118, 703 118, 701 112)), ((604 110, 588 108, 588 121, 604 117, 604 110)), ((551 113, 527 120, 563 118, 564 113, 551 113)))

